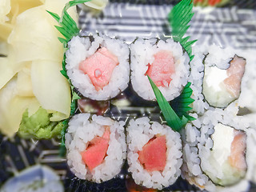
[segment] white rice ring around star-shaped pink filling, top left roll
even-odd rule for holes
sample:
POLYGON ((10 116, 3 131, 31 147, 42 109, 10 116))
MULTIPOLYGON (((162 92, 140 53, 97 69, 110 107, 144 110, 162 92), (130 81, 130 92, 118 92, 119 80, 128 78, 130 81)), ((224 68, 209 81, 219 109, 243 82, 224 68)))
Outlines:
POLYGON ((125 90, 130 81, 130 50, 125 42, 111 39, 105 35, 93 35, 94 42, 89 37, 75 36, 68 43, 66 51, 66 70, 74 87, 85 96, 94 100, 107 100, 114 98, 122 90, 125 90), (96 90, 87 74, 79 70, 80 62, 93 55, 99 46, 106 47, 118 58, 118 66, 114 67, 110 82, 102 90, 96 90))

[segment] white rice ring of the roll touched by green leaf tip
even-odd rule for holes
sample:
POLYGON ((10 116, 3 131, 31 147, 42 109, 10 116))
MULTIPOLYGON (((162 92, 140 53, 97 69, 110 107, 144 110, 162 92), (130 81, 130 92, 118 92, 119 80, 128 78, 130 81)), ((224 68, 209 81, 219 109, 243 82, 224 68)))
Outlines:
POLYGON ((167 101, 170 101, 181 93, 183 86, 186 86, 190 74, 190 58, 187 53, 183 53, 182 46, 179 42, 174 42, 169 38, 166 42, 152 38, 144 40, 138 38, 130 44, 130 68, 131 83, 136 93, 146 99, 155 100, 155 95, 147 78, 146 71, 148 64, 154 62, 154 54, 160 50, 170 50, 174 56, 175 73, 170 76, 172 81, 169 86, 159 86, 162 94, 167 101))

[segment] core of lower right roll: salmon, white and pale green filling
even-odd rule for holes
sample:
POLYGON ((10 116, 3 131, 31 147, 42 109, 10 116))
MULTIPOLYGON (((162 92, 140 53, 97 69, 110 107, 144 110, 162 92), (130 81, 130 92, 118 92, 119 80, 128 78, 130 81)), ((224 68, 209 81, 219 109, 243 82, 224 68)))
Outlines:
POLYGON ((210 136, 213 146, 199 153, 202 170, 212 182, 229 186, 246 175, 246 133, 218 122, 210 136))

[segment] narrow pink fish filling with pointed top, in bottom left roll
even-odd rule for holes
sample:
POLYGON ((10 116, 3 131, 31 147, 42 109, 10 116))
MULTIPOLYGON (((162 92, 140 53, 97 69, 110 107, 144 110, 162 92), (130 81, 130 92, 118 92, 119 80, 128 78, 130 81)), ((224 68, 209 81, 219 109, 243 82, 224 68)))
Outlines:
POLYGON ((90 141, 89 146, 82 154, 82 161, 88 166, 90 172, 94 170, 96 166, 102 164, 106 151, 110 142, 110 127, 106 126, 106 130, 102 137, 95 137, 90 141))

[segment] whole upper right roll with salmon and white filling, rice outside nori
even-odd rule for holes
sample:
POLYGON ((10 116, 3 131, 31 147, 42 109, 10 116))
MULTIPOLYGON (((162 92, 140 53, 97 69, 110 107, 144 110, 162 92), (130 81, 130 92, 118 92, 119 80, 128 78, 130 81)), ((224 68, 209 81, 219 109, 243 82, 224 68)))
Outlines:
POLYGON ((237 102, 245 86, 247 59, 240 57, 244 53, 231 47, 222 49, 214 45, 195 46, 194 54, 189 78, 195 100, 193 110, 202 115, 206 110, 214 110, 214 107, 225 110, 230 103, 237 102))

